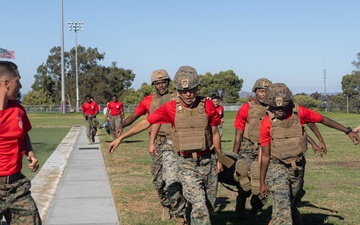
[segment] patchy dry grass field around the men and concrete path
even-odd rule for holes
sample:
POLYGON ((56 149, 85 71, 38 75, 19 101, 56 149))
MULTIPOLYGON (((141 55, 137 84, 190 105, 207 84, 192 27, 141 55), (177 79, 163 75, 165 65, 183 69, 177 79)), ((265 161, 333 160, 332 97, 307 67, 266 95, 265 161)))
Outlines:
MULTIPOLYGON (((223 151, 232 150, 235 115, 236 112, 225 113, 222 138, 223 151)), ((355 127, 360 124, 358 114, 324 113, 324 115, 345 126, 355 127)), ((72 125, 83 125, 83 119, 79 113, 66 115, 29 114, 29 117, 35 127, 34 131, 37 128, 48 129, 60 126, 68 129, 72 125)), ((306 195, 299 206, 304 224, 359 224, 360 146, 352 144, 350 139, 342 132, 321 124, 318 126, 327 144, 328 154, 320 158, 315 156, 311 149, 306 153, 307 165, 304 187, 306 195)), ((61 134, 52 135, 52 132, 45 132, 40 139, 37 139, 38 141, 36 141, 38 135, 30 133, 34 148, 36 148, 36 142, 45 142, 42 139, 48 139, 50 136, 61 136, 61 134)), ((147 153, 147 132, 142 132, 125 140, 113 155, 107 153, 107 146, 111 139, 104 134, 103 130, 100 130, 99 138, 121 223, 124 225, 174 224, 173 221, 162 222, 160 219, 160 204, 151 183, 149 172, 150 157, 147 153)), ((61 141, 61 138, 59 139, 61 141)), ((43 145, 37 145, 37 147, 39 148, 36 148, 36 153, 40 158, 39 151, 46 147, 43 145)), ((233 213, 235 197, 236 193, 225 189, 219 184, 213 224, 251 224, 247 221, 238 221, 235 218, 233 213)), ((250 208, 249 204, 247 208, 250 208)), ((262 224, 266 224, 265 221, 270 214, 271 198, 259 214, 262 224)))

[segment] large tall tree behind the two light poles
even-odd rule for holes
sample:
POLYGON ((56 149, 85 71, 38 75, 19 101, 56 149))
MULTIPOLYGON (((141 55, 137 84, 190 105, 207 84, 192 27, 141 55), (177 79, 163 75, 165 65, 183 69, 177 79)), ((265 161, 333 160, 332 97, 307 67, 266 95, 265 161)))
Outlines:
MULTIPOLYGON (((78 46, 77 51, 80 103, 83 102, 86 94, 91 94, 98 103, 105 104, 112 95, 117 94, 121 98, 125 91, 130 89, 135 78, 132 70, 118 68, 116 62, 109 67, 99 65, 99 62, 105 58, 105 53, 100 53, 97 48, 86 49, 78 46)), ((75 48, 70 52, 64 52, 64 69, 65 100, 70 108, 74 108, 76 105, 75 48)), ((46 63, 38 67, 34 77, 33 91, 50 95, 55 104, 60 104, 62 95, 60 47, 53 47, 50 50, 46 63), (39 92, 40 90, 42 92, 39 92)))

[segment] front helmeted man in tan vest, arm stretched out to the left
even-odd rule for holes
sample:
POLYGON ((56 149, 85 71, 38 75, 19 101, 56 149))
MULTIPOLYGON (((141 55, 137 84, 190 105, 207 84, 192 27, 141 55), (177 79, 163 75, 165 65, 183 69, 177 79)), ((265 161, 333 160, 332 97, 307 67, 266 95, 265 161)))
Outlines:
POLYGON ((191 205, 191 224, 211 224, 217 195, 217 173, 222 170, 215 151, 221 152, 219 114, 211 100, 197 96, 200 77, 190 66, 182 66, 174 77, 179 96, 164 103, 145 120, 110 143, 109 153, 125 138, 150 127, 171 123, 172 145, 177 154, 178 177, 183 195, 191 205), (208 204, 209 203, 209 204, 208 204))

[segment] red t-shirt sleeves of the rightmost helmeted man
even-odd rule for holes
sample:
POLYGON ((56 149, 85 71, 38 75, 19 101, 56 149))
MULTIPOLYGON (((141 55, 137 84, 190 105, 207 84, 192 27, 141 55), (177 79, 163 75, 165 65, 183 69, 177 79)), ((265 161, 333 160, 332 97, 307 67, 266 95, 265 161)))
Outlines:
MULTIPOLYGON (((286 119, 291 118, 290 114, 286 119)), ((300 124, 303 126, 306 123, 320 123, 322 120, 322 115, 311 109, 299 106, 299 118, 300 124)), ((271 130, 271 121, 269 115, 266 115, 265 118, 261 121, 260 124, 260 144, 261 146, 266 146, 270 144, 270 130, 271 130)))

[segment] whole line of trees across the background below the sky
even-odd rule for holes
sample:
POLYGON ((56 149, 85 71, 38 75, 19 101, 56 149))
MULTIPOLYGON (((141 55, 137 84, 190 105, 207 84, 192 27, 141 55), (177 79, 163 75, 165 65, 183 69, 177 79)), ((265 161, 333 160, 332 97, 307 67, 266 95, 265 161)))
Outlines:
MULTIPOLYGON (((85 48, 78 46, 78 82, 80 103, 84 101, 86 94, 94 96, 96 102, 106 104, 113 94, 118 95, 125 105, 135 105, 143 97, 154 91, 149 83, 142 83, 135 90, 132 87, 136 74, 131 69, 124 69, 112 62, 110 66, 100 65, 104 60, 105 53, 97 48, 85 48)), ((294 101, 300 105, 328 111, 360 111, 360 53, 357 60, 352 64, 356 68, 350 74, 342 78, 342 93, 337 95, 322 96, 315 92, 308 96, 305 93, 296 94, 294 101), (326 100, 326 105, 324 104, 326 100)), ((67 105, 74 109, 76 105, 76 71, 75 71, 75 47, 69 52, 64 52, 65 68, 65 100, 67 105)), ((150 80, 151 71, 149 71, 150 80)), ((223 104, 241 104, 252 98, 240 98, 239 92, 244 80, 239 78, 233 70, 220 71, 215 74, 207 72, 199 74, 202 85, 199 94, 202 96, 219 95, 223 104)), ((61 48, 55 46, 50 49, 50 55, 46 62, 38 66, 32 90, 23 96, 24 105, 60 105, 61 102, 61 48)), ((260 78, 260 77, 259 77, 260 78)), ((170 89, 173 90, 172 82, 170 89)))

